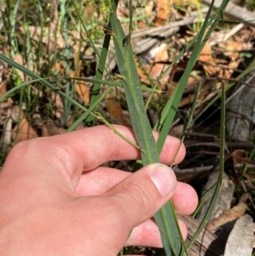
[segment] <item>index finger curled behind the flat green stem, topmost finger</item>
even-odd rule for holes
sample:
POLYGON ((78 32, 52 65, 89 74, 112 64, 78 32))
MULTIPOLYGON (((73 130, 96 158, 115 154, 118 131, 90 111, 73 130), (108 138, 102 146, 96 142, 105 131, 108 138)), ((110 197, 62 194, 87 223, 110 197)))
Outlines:
MULTIPOLYGON (((116 130, 128 140, 137 143, 132 128, 114 125, 116 130)), ((159 134, 154 133, 155 139, 159 134)), ((78 153, 83 160, 84 170, 97 168, 104 162, 119 160, 140 159, 140 151, 126 140, 117 135, 111 128, 105 125, 94 128, 85 128, 69 134, 62 134, 52 137, 58 141, 60 146, 67 146, 78 153)), ((161 151, 161 162, 170 164, 175 158, 175 164, 181 162, 185 155, 184 145, 180 145, 180 140, 172 136, 167 136, 165 145, 161 151), (179 149, 179 150, 178 150, 179 149)))

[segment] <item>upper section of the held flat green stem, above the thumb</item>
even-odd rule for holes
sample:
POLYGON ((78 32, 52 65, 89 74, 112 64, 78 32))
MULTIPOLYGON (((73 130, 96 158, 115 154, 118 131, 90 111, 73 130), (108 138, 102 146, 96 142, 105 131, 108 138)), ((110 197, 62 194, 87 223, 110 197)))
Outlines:
POLYGON ((144 111, 143 95, 141 93, 136 65, 133 60, 131 45, 127 43, 127 37, 122 30, 116 14, 112 13, 110 20, 113 41, 116 48, 117 64, 122 75, 133 130, 142 150, 142 160, 144 165, 151 162, 159 162, 155 139, 151 133, 150 122, 144 111))

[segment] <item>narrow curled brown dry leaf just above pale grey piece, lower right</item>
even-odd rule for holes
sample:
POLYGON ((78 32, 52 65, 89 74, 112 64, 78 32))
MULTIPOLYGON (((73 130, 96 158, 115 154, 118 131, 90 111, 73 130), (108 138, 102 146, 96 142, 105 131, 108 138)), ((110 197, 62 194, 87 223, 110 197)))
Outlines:
POLYGON ((207 229, 211 231, 217 230, 218 227, 225 223, 241 217, 246 212, 246 208, 246 203, 239 202, 234 208, 226 210, 217 219, 212 220, 212 222, 207 225, 207 229))

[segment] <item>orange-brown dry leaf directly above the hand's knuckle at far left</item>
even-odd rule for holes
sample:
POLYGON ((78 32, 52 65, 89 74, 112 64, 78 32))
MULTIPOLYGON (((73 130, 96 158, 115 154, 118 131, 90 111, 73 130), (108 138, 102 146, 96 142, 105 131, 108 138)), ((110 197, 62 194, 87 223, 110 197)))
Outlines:
POLYGON ((14 130, 12 133, 12 139, 15 139, 15 143, 19 143, 20 141, 23 141, 26 139, 33 139, 37 137, 38 135, 36 131, 31 127, 29 122, 27 122, 25 117, 21 120, 20 125, 17 124, 14 127, 14 130))

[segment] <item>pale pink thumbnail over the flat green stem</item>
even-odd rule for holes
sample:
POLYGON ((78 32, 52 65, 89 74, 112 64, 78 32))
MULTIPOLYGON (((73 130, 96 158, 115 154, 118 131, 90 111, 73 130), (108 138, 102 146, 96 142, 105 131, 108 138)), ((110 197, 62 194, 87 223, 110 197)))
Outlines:
POLYGON ((163 164, 154 164, 149 173, 150 179, 156 185, 161 196, 167 196, 175 190, 176 176, 172 168, 163 164))

